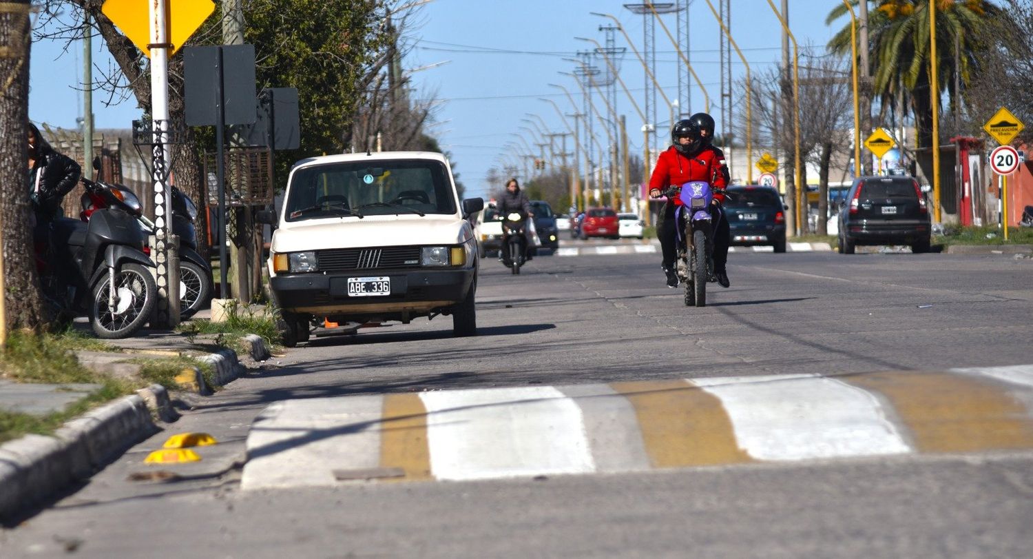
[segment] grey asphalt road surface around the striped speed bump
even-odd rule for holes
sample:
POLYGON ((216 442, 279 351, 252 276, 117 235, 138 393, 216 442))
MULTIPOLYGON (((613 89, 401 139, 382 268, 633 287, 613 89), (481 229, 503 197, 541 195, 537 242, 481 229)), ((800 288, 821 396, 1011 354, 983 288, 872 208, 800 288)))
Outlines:
MULTIPOLYGON (((243 456, 278 402, 1033 364, 1031 259, 735 253, 728 270, 731 288, 711 284, 706 308, 686 308, 656 255, 539 256, 520 276, 486 261, 479 336, 452 338, 438 317, 317 338, 0 533, 0 555, 1029 556, 1033 453, 1022 446, 256 491, 241 487, 247 466, 217 467, 243 456), (184 431, 219 439, 209 471, 142 464, 184 431)), ((1030 401, 1008 417, 1020 428, 1030 401)))

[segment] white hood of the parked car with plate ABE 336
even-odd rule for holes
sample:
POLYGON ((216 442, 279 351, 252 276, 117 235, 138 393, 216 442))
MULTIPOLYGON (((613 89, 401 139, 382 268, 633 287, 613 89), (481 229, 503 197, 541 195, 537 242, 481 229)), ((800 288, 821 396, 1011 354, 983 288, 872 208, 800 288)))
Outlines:
POLYGON ((366 216, 286 223, 273 234, 273 252, 404 245, 456 245, 473 237, 465 219, 446 216, 366 216))

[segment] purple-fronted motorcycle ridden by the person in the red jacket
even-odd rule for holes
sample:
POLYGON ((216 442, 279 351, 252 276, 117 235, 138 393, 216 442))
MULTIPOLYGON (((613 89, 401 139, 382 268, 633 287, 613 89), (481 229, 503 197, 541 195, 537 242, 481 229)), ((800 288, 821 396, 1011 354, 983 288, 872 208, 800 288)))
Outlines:
POLYGON ((710 213, 714 192, 710 183, 692 181, 671 186, 683 206, 675 212, 679 227, 678 277, 685 283, 685 306, 707 305, 707 282, 714 277, 714 235, 710 213))

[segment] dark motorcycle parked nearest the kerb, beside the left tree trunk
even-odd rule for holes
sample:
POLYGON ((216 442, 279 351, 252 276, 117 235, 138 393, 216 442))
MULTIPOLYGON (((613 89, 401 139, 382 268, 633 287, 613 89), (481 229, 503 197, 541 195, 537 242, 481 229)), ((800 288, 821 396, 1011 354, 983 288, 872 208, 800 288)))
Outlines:
MULTIPOLYGON (((107 185, 81 179, 89 221, 58 218, 49 243, 37 247, 43 293, 59 319, 88 316, 99 338, 128 338, 150 320, 157 301, 151 259, 135 217, 111 204, 107 185)), ((129 192, 132 195, 131 192, 129 192)), ((127 204, 139 200, 133 195, 127 204)))

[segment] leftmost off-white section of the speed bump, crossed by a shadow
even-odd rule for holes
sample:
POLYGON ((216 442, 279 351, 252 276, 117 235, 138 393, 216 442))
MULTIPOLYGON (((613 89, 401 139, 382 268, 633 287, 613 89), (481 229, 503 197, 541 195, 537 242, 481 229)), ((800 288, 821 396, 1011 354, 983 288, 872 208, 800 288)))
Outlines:
POLYGON ((335 470, 380 466, 380 396, 277 402, 248 433, 241 488, 333 486, 335 470))

